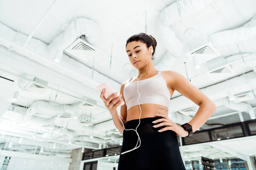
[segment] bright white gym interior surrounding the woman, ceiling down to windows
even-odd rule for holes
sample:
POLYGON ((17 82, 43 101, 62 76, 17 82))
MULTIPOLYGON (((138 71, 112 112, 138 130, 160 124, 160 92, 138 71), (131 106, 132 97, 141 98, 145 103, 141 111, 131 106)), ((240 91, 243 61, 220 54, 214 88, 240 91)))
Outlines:
MULTIPOLYGON (((216 105, 177 136, 186 169, 256 170, 256 0, 0 0, 1 170, 116 170, 122 133, 96 86, 137 75, 125 43, 140 32, 159 71, 216 105)), ((197 110, 175 91, 169 119, 197 110)))

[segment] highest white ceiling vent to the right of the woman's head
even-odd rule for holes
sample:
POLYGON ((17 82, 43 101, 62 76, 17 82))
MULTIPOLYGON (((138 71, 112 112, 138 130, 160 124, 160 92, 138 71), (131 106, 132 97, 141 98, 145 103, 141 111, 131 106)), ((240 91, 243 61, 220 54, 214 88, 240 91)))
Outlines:
MULTIPOLYGON (((193 43, 193 42, 190 42, 190 43, 193 43)), ((208 57, 208 58, 215 58, 215 57, 221 56, 221 54, 212 45, 211 42, 208 42, 207 44, 201 45, 200 47, 195 48, 192 51, 189 51, 189 53, 186 53, 186 55, 188 57, 198 56, 198 57, 208 57)))

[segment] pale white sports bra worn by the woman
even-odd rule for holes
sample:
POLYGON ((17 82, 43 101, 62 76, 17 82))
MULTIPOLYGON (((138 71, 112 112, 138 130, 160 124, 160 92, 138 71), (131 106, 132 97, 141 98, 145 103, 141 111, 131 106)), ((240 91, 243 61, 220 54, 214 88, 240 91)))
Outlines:
POLYGON ((161 75, 161 71, 158 71, 157 75, 153 77, 139 80, 138 82, 130 82, 131 79, 126 83, 123 90, 127 111, 132 106, 139 105, 139 103, 140 105, 157 104, 166 106, 167 108, 169 107, 171 94, 167 88, 165 79, 161 75), (140 98, 137 92, 137 83, 140 98), (138 98, 139 103, 137 102, 138 98))

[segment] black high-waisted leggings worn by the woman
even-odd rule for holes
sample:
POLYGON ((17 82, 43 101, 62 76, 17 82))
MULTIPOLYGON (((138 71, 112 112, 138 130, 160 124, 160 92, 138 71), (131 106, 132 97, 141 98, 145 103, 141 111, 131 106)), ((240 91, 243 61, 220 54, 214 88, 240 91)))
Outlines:
POLYGON ((128 153, 120 154, 117 170, 186 170, 183 164, 175 131, 158 132, 166 126, 153 127, 158 123, 154 120, 163 117, 147 117, 126 122, 121 153, 133 149, 136 144, 140 147, 128 153))

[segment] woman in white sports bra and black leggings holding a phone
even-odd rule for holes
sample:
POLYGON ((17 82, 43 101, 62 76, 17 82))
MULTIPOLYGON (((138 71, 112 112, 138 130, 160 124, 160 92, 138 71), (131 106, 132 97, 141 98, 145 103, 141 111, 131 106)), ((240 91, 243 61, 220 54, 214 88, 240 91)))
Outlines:
POLYGON ((181 74, 157 71, 152 63, 156 45, 151 35, 131 36, 126 42, 126 52, 138 75, 122 83, 120 96, 113 101, 117 93, 108 99, 104 97, 104 90, 100 95, 116 128, 123 133, 121 153, 131 150, 120 154, 118 170, 185 170, 177 136, 185 137, 189 132, 168 117, 169 100, 175 90, 200 106, 188 122, 192 132, 204 125, 216 109, 214 103, 181 74), (116 108, 123 99, 125 105, 121 106, 119 116, 116 108), (138 144, 140 147, 132 150, 138 144))

